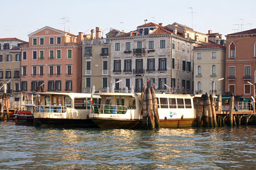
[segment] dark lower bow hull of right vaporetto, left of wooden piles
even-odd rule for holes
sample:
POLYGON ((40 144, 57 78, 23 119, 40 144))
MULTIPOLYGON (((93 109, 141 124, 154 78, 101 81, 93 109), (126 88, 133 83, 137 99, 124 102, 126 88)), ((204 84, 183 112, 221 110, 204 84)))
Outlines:
POLYGON ((118 119, 101 119, 92 118, 92 121, 100 128, 104 129, 132 129, 137 127, 141 121, 139 120, 118 120, 118 119))

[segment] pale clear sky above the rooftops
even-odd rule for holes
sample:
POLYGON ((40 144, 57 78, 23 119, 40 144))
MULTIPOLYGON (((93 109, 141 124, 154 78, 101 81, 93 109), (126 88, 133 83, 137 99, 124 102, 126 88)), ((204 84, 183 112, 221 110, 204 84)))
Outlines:
POLYGON ((64 21, 65 31, 74 35, 100 27, 105 36, 110 28, 134 31, 147 19, 164 26, 177 22, 202 33, 211 29, 225 39, 238 31, 238 24, 239 31, 256 28, 255 6, 253 0, 0 0, 0 38, 28 41, 28 34, 45 26, 64 31, 64 21))

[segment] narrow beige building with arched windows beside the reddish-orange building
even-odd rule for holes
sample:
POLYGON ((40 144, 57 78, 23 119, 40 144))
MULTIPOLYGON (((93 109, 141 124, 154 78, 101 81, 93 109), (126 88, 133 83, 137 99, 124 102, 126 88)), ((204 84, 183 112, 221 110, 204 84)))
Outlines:
POLYGON ((225 91, 226 46, 208 44, 194 47, 194 94, 223 94, 225 91))

